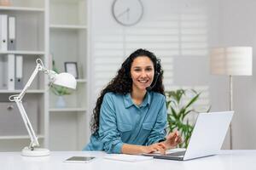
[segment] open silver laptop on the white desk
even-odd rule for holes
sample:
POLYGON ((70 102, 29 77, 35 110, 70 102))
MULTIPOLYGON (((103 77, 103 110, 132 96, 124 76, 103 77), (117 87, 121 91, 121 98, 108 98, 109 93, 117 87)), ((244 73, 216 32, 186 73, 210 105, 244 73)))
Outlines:
POLYGON ((167 153, 166 155, 152 153, 143 154, 143 156, 185 161, 198 157, 216 155, 224 142, 233 114, 234 111, 200 113, 197 116, 195 127, 186 150, 167 153))

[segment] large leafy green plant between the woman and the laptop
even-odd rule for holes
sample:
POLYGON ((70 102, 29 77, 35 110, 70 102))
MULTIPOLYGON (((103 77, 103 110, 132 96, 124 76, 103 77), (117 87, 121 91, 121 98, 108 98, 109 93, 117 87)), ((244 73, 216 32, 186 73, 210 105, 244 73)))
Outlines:
MULTIPOLYGON (((194 123, 189 121, 189 114, 196 114, 199 111, 195 111, 192 107, 199 99, 201 93, 197 93, 193 89, 177 89, 175 91, 166 92, 166 107, 167 107, 167 121, 169 131, 177 130, 183 138, 183 142, 179 144, 179 147, 187 148, 189 139, 192 134, 194 123), (192 93, 193 97, 184 103, 183 98, 186 94, 192 93)), ((210 107, 207 112, 210 111, 210 107)))

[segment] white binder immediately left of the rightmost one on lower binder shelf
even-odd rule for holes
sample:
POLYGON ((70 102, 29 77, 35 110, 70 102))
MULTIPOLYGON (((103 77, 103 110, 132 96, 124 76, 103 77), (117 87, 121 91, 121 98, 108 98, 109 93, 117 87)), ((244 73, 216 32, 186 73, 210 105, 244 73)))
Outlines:
POLYGON ((8 90, 15 89, 15 54, 8 54, 8 90))

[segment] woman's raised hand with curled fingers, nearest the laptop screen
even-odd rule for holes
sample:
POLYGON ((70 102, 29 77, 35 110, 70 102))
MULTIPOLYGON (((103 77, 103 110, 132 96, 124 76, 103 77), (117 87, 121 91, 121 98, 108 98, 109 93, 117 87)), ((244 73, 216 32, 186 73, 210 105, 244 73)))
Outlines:
POLYGON ((181 136, 178 134, 177 131, 170 133, 167 138, 166 141, 162 142, 165 146, 166 149, 172 149, 175 148, 177 146, 177 144, 180 144, 182 142, 182 138, 181 136))

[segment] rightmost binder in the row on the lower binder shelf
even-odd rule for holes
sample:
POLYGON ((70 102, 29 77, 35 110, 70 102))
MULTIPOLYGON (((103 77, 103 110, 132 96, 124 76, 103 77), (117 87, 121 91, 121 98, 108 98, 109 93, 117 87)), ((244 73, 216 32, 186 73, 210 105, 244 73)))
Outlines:
POLYGON ((16 55, 15 62, 15 89, 23 88, 23 57, 22 55, 16 55))

